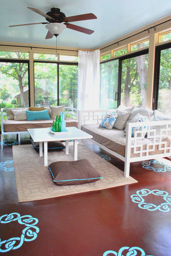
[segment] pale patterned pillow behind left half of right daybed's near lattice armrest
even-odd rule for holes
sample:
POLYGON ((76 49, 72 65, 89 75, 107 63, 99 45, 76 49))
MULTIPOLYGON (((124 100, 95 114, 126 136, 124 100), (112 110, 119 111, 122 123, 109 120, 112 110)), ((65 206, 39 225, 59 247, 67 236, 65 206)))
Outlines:
MULTIPOLYGON (((136 123, 136 122, 147 122, 149 121, 149 117, 148 116, 143 116, 141 114, 136 114, 130 121, 130 123, 136 123)), ((146 129, 147 127, 144 126, 144 132, 140 132, 140 133, 135 133, 135 131, 142 131, 142 127, 132 127, 132 131, 131 131, 131 137, 140 137, 139 139, 144 139, 145 135, 146 135, 146 129)), ((125 129, 125 134, 127 133, 127 128, 125 129)))

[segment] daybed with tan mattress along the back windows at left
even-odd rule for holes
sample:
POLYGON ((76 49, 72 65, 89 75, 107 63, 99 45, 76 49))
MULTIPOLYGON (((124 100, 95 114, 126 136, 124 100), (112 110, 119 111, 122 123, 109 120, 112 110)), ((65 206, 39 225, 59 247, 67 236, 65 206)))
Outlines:
MULTIPOLYGON (((13 108, 15 110, 15 108, 13 108)), ((17 108, 18 110, 23 108, 17 108)), ((77 117, 77 110, 74 108, 64 108, 65 114, 70 114, 74 117, 77 117), (76 112, 76 114, 74 114, 76 112)), ((1 135, 5 134, 18 134, 18 140, 20 142, 20 135, 23 133, 27 133, 27 129, 31 128, 47 128, 51 127, 54 119, 49 120, 11 120, 11 119, 3 119, 3 116, 6 115, 6 109, 1 109, 1 135)), ((70 117, 65 117, 66 127, 75 126, 78 128, 77 119, 73 119, 70 117)))

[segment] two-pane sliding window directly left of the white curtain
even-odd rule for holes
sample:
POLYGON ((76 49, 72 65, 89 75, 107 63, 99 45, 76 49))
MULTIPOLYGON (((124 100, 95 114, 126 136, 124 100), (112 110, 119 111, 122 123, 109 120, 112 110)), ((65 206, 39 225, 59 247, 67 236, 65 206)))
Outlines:
POLYGON ((35 106, 77 108, 77 74, 77 65, 35 61, 35 106))

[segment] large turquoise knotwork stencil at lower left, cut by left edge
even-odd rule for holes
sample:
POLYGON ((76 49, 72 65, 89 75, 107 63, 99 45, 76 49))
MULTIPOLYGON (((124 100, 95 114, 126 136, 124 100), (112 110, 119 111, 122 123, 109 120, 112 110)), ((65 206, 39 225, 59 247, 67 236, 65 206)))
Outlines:
POLYGON ((39 228, 35 226, 39 222, 37 218, 33 218, 31 215, 21 216, 17 212, 0 216, 1 224, 10 223, 13 221, 18 221, 18 223, 24 225, 25 228, 22 230, 20 237, 12 237, 4 241, 1 241, 0 239, 0 253, 6 253, 11 250, 19 249, 24 241, 30 242, 37 238, 37 234, 39 233, 39 228))

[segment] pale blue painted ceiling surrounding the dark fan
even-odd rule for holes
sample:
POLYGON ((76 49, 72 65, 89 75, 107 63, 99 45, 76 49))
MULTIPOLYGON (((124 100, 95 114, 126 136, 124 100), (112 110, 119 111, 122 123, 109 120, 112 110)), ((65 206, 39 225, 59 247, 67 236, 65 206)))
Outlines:
POLYGON ((9 25, 46 22, 27 7, 44 13, 59 7, 66 17, 94 13, 96 20, 72 24, 93 29, 91 35, 64 29, 58 45, 94 49, 120 36, 171 14, 171 0, 0 0, 0 41, 55 45, 56 39, 45 40, 45 25, 9 28, 9 25))

